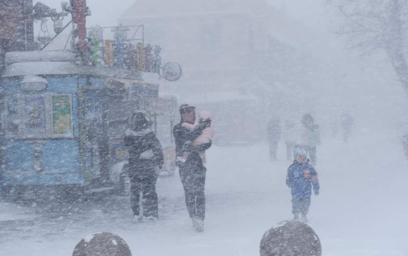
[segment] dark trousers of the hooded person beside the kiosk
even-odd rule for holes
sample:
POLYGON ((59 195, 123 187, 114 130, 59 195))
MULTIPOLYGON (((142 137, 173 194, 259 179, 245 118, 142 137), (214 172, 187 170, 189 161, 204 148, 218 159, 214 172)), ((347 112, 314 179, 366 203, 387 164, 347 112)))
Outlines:
POLYGON ((149 174, 136 174, 131 179, 131 206, 134 215, 140 214, 140 192, 142 192, 143 216, 159 217, 158 197, 156 182, 158 175, 154 172, 149 174))

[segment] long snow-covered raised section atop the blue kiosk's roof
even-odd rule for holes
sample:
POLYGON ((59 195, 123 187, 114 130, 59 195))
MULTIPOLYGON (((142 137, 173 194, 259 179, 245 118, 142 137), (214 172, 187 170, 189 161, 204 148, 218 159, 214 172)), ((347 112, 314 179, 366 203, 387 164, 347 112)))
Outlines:
POLYGON ((17 62, 74 62, 75 54, 66 50, 12 51, 6 53, 6 65, 17 62))

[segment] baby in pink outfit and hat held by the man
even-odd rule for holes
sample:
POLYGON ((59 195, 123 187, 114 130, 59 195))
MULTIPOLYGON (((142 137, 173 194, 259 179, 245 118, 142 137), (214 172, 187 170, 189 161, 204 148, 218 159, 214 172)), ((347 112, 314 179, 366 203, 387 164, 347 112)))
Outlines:
MULTIPOLYGON (((210 142, 210 140, 214 137, 214 130, 210 127, 212 119, 213 119, 213 116, 211 115, 210 111, 199 111, 198 112, 198 123, 195 123, 192 125, 192 124, 184 122, 182 124, 182 127, 188 129, 189 131, 192 131, 192 130, 195 130, 197 126, 204 121, 209 123, 208 127, 202 130, 201 135, 199 135, 196 139, 191 141, 191 145, 198 146, 198 145, 207 144, 210 142)), ((181 157, 180 160, 182 162, 186 162, 188 155, 189 155, 189 152, 184 152, 184 155, 181 157)), ((206 152, 200 151, 199 155, 201 158, 202 165, 206 165, 207 163, 206 152)))

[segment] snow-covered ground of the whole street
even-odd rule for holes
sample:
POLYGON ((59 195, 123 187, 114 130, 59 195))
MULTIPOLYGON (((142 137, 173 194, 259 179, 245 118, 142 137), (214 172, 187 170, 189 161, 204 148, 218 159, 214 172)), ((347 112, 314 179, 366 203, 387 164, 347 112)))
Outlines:
MULTIPOLYGON (((398 140, 384 134, 360 132, 349 144, 323 138, 318 148, 321 190, 309 224, 325 256, 408 255, 408 164, 398 140)), ((73 205, 0 202, 0 255, 71 255, 81 238, 101 231, 120 235, 133 255, 259 255, 263 233, 292 218, 283 146, 273 163, 266 144, 208 151, 204 233, 192 229, 176 175, 158 181, 161 218, 154 223, 133 223, 124 196, 73 205)))

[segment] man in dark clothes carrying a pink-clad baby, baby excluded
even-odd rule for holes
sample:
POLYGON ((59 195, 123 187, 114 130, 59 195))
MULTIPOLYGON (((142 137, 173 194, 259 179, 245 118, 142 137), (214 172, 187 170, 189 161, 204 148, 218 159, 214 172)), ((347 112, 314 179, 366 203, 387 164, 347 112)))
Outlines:
POLYGON ((195 107, 183 104, 180 107, 181 122, 174 126, 175 153, 179 159, 184 152, 189 152, 185 162, 176 161, 179 167, 180 179, 184 187, 186 205, 193 227, 197 232, 203 231, 203 221, 206 215, 206 196, 204 193, 207 169, 202 165, 200 151, 206 151, 212 145, 207 144, 192 146, 191 141, 197 138, 209 124, 202 122, 195 130, 189 131, 182 127, 182 123, 194 124, 195 107))

